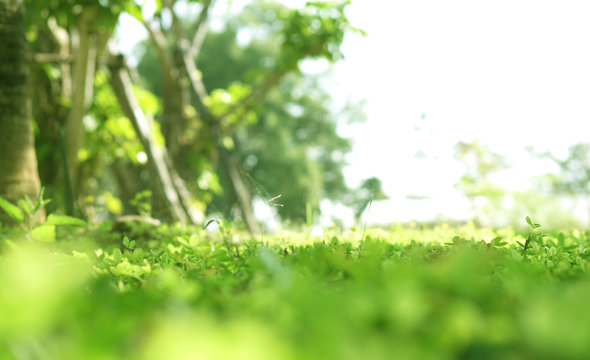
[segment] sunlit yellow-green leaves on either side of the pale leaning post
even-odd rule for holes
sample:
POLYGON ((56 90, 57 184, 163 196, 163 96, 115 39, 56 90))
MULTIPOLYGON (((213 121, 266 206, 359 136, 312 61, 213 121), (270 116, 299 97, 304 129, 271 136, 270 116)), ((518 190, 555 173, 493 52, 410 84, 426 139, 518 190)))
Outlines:
MULTIPOLYGON (((115 215, 129 209, 145 211, 144 203, 140 208, 132 200, 148 186, 148 156, 133 124, 122 113, 106 75, 98 73, 94 85, 94 99, 84 122, 85 141, 78 153, 79 175, 84 179, 78 191, 86 195, 84 213, 92 216, 104 211, 115 215), (125 178, 117 180, 113 174, 121 168, 127 170, 125 178), (121 187, 121 181, 127 187, 121 187)), ((153 118, 161 109, 160 100, 140 87, 134 86, 133 91, 144 114, 153 118)), ((159 123, 150 124, 154 141, 164 145, 159 123)))

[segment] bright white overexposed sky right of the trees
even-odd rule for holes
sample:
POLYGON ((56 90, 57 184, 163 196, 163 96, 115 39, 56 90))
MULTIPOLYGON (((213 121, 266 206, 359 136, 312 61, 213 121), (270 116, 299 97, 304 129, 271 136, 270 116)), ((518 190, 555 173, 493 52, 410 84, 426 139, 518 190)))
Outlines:
POLYGON ((587 141, 588 14, 587 0, 353 0, 349 19, 368 36, 345 40, 333 86, 337 100, 367 101, 368 121, 341 131, 354 138, 350 184, 377 176, 391 197, 373 204, 370 222, 468 216, 453 188, 458 141, 508 155, 513 188, 551 170, 526 146, 566 154, 587 141))

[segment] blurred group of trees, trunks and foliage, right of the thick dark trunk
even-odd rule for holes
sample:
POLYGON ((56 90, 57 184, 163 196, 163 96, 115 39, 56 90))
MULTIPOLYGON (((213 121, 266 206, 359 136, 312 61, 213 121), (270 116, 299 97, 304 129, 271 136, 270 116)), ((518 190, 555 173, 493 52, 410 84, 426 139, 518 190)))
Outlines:
POLYGON ((255 1, 215 30, 213 1, 144 3, 26 1, 40 176, 55 207, 133 213, 140 196, 159 218, 220 213, 255 228, 255 198, 297 222, 356 194, 337 127, 362 120, 360 105, 336 108, 326 75, 300 70, 340 60, 345 34, 362 33, 347 1, 255 1), (123 12, 149 34, 137 72, 109 45, 123 12))

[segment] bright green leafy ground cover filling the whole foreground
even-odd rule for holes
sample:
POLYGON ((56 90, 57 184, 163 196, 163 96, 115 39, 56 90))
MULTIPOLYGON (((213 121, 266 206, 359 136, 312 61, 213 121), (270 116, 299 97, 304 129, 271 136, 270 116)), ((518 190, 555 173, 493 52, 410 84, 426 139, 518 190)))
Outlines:
POLYGON ((534 225, 0 229, 0 358, 588 358, 589 233, 534 225))

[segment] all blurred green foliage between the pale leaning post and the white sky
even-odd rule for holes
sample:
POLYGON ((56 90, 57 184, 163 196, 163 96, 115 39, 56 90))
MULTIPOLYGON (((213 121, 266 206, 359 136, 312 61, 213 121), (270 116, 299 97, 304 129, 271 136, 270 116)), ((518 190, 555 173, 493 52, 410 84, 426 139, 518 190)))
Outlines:
MULTIPOLYGON (((284 58, 293 60, 296 57, 296 62, 309 58, 308 45, 293 50, 297 52, 294 54, 288 52, 286 42, 283 44, 286 33, 296 36, 293 32, 302 29, 305 23, 312 26, 316 20, 323 21, 320 27, 325 29, 306 30, 304 40, 318 43, 329 39, 326 41, 332 44, 330 51, 336 51, 333 47, 339 44, 340 36, 348 31, 349 25, 345 25, 342 18, 344 4, 337 4, 330 10, 331 5, 334 4, 310 4, 305 10, 296 11, 277 2, 257 1, 246 6, 239 16, 225 19, 221 31, 210 31, 199 53, 197 67, 205 87, 210 90, 207 104, 212 112, 226 113, 257 84, 285 70, 284 58), (341 25, 330 28, 336 24, 341 25), (250 39, 238 42, 238 33, 249 34, 250 39)), ((185 27, 190 28, 192 22, 194 19, 186 19, 185 27)), ((312 57, 327 56, 328 48, 321 51, 324 52, 314 53, 312 57)), ((337 57, 334 54, 330 59, 337 57)), ((138 72, 154 94, 161 94, 158 61, 147 43, 138 72)), ((321 76, 292 71, 280 84, 269 89, 264 100, 247 104, 215 128, 198 115, 189 121, 179 143, 184 144, 185 163, 190 173, 199 176, 199 180, 192 183, 192 189, 211 200, 210 212, 231 217, 236 203, 229 190, 230 180, 216 163, 217 146, 231 150, 236 156, 253 194, 262 200, 281 195, 283 206, 277 206, 276 210, 285 220, 304 222, 308 204, 317 211, 320 199, 339 201, 350 192, 342 169, 351 143, 339 136, 336 129, 339 122, 362 120, 362 116, 358 116, 360 107, 347 104, 347 108, 336 113, 332 97, 322 88, 321 81, 321 76)))

